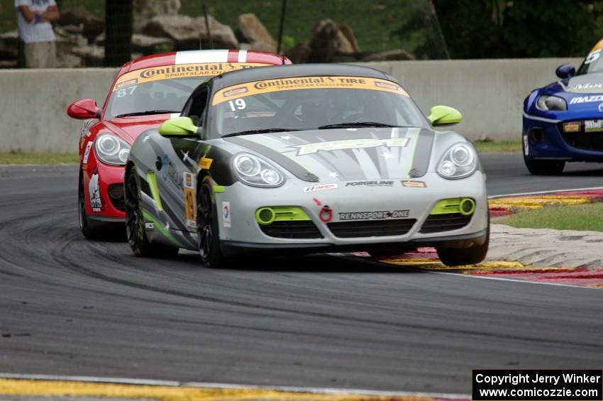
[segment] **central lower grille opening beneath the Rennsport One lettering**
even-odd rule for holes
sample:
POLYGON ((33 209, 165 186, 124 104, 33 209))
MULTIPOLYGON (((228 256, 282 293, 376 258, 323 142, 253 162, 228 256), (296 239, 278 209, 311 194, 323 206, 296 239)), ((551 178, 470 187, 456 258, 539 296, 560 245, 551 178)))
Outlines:
POLYGON ((372 236, 402 236, 414 226, 416 219, 392 219, 370 221, 339 221, 328 223, 328 229, 339 238, 372 236))

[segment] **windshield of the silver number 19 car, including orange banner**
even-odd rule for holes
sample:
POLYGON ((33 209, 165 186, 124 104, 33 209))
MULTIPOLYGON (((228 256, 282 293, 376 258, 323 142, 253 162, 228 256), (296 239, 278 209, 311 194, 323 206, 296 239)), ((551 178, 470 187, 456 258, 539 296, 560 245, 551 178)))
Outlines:
POLYGON ((212 113, 211 131, 216 136, 363 126, 428 127, 399 84, 368 77, 313 76, 238 84, 214 94, 212 113))

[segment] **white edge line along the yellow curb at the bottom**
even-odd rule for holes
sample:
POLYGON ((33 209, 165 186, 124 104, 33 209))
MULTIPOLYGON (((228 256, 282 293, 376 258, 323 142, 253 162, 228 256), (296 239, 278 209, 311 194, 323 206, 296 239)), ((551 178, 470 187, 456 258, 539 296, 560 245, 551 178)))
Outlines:
POLYGON ((309 392, 313 394, 331 394, 331 395, 392 395, 402 397, 431 397, 448 398, 450 400, 470 400, 470 395, 448 394, 442 392, 412 392, 412 391, 382 391, 365 390, 357 388, 319 388, 319 387, 296 387, 296 386, 263 386, 263 385, 242 385, 232 383, 205 383, 205 382, 179 382, 175 380, 153 380, 153 379, 135 379, 135 378, 100 378, 94 376, 69 376, 69 375, 37 375, 37 374, 19 374, 19 373, 0 373, 0 378, 18 379, 18 380, 59 380, 88 383, 113 383, 128 385, 155 385, 166 387, 198 387, 198 388, 229 388, 229 389, 250 389, 250 390, 276 390, 288 392, 309 392))

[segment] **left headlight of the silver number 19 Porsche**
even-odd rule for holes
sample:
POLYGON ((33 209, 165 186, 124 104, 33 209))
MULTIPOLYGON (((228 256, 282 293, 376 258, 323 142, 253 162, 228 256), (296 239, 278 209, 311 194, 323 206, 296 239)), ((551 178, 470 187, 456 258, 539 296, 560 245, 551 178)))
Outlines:
POLYGON ((250 153, 236 155, 233 167, 238 179, 253 187, 280 187, 284 182, 277 167, 250 153))

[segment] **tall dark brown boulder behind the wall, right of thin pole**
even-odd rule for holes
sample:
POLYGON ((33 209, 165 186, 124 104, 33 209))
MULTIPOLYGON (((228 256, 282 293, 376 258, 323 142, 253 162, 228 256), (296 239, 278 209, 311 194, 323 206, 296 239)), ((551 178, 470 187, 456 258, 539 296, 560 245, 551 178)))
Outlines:
POLYGON ((312 29, 309 62, 331 62, 336 55, 360 52, 352 28, 326 19, 312 29))

